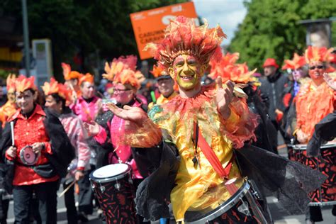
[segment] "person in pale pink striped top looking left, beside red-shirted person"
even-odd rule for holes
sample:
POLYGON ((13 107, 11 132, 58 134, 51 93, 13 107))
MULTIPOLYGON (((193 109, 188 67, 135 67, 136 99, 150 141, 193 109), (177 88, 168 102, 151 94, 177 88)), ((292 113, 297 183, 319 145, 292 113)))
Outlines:
MULTIPOLYGON (((91 157, 89 145, 87 144, 88 133, 84 128, 82 121, 72 113, 67 106, 71 101, 71 93, 63 84, 59 84, 55 79, 51 78, 50 82, 45 82, 42 89, 45 93, 45 107, 54 111, 60 119, 69 140, 76 150, 77 157, 72 160, 69 173, 63 183, 63 188, 71 184, 72 181, 82 181, 88 175, 90 170, 89 159, 91 157)), ((79 184, 79 206, 85 205, 84 194, 86 189, 82 189, 79 184)), ((67 207, 68 223, 77 223, 77 208, 74 200, 74 186, 65 193, 65 206, 67 207)))

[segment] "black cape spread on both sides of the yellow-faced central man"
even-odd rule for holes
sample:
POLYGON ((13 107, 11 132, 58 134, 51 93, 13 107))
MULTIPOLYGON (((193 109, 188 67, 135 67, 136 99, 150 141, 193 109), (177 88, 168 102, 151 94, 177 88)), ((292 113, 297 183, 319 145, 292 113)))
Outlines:
MULTIPOLYGON (((159 147, 148 150, 157 169, 138 187, 136 209, 147 220, 169 218, 167 201, 179 169, 177 148, 162 142, 159 147)), ((254 181, 258 189, 270 191, 292 215, 306 212, 310 202, 308 193, 317 189, 326 178, 303 164, 252 145, 235 150, 235 155, 242 176, 254 181)))

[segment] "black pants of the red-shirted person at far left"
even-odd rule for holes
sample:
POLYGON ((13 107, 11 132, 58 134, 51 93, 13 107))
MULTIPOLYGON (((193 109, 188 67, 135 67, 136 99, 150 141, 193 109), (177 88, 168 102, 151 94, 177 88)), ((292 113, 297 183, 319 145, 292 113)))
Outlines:
POLYGON ((13 187, 15 223, 29 223, 30 201, 35 192, 42 223, 57 223, 58 181, 13 187))

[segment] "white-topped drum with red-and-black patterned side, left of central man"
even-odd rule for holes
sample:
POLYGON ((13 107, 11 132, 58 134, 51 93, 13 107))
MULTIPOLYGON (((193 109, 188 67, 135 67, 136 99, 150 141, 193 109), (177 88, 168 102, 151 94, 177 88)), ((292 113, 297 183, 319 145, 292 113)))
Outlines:
POLYGON ((106 223, 137 223, 131 170, 128 164, 110 164, 90 174, 106 223))

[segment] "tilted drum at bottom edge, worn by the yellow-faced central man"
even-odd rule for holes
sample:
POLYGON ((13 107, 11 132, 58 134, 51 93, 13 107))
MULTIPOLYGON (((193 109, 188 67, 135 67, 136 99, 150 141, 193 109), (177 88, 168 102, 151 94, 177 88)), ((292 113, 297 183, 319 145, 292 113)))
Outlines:
POLYGON ((225 203, 213 211, 186 211, 185 223, 262 223, 267 224, 266 215, 257 201, 257 193, 245 183, 225 203))

